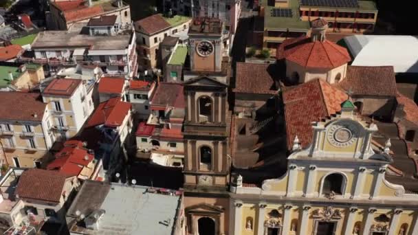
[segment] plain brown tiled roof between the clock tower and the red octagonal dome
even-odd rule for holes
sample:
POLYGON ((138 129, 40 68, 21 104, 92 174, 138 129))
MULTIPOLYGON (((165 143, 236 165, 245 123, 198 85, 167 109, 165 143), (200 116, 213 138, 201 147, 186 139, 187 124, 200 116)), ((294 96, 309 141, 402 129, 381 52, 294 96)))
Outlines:
POLYGON ((236 93, 276 94, 274 80, 267 71, 269 64, 236 63, 236 93))

